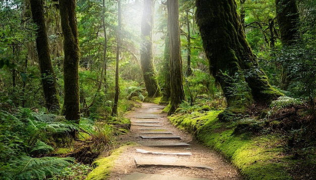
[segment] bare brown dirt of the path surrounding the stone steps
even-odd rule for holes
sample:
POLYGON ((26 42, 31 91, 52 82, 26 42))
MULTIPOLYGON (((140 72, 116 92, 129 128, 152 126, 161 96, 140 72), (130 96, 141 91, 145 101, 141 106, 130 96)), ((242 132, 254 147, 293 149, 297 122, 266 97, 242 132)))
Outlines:
MULTIPOLYGON (((196 140, 193 139, 192 135, 183 131, 178 130, 174 127, 167 119, 167 114, 161 113, 162 106, 154 105, 150 103, 142 103, 141 108, 137 108, 133 112, 130 112, 125 118, 131 118, 135 115, 139 115, 144 111, 152 110, 150 113, 158 115, 160 123, 164 129, 173 132, 174 135, 181 136, 181 141, 191 144, 186 147, 147 147, 140 144, 136 146, 128 147, 114 162, 114 170, 111 172, 111 180, 117 180, 124 177, 126 174, 133 172, 142 172, 150 174, 162 174, 162 175, 175 175, 181 177, 199 177, 206 179, 243 179, 238 173, 236 168, 225 158, 223 158, 216 151, 209 149, 196 140), (152 108, 157 107, 159 109, 152 108), (203 169, 197 167, 173 167, 173 166, 139 166, 137 167, 134 162, 134 156, 137 156, 136 149, 145 149, 159 152, 191 152, 190 161, 198 162, 199 164, 208 165, 214 169, 203 169)), ((131 126, 131 131, 128 134, 121 135, 118 137, 118 141, 124 142, 138 142, 142 141, 139 137, 139 130, 135 126, 131 126)))

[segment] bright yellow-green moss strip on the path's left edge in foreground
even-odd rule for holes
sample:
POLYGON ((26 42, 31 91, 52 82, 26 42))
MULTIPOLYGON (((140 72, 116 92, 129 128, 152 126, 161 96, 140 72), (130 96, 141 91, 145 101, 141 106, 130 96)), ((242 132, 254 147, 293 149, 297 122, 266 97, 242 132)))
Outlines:
MULTIPOLYGON (((134 145, 134 144, 131 144, 134 145)), ((98 180, 98 179, 107 179, 110 175, 110 172, 113 168, 114 161, 117 159, 120 154, 127 149, 127 147, 131 145, 124 145, 118 149, 116 149, 110 156, 108 157, 101 157, 97 160, 95 160, 92 163, 92 166, 94 169, 88 174, 87 180, 98 180)))

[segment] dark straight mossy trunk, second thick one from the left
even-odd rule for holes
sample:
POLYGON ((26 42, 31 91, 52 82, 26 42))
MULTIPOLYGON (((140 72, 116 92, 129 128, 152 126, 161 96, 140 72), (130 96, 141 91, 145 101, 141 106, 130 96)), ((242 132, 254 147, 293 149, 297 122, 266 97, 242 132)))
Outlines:
MULTIPOLYGON (((80 121, 79 102, 79 40, 76 19, 76 0, 60 0, 62 31, 64 36, 64 107, 63 114, 67 120, 76 124, 80 121)), ((78 137, 78 132, 73 132, 78 137)))

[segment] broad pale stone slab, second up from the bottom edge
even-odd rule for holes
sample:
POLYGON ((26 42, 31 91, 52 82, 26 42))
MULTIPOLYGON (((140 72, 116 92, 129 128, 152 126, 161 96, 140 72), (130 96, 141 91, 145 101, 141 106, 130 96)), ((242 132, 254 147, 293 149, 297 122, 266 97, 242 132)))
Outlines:
POLYGON ((178 156, 149 156, 148 158, 145 158, 144 156, 134 156, 134 161, 136 166, 198 167, 214 170, 214 168, 208 165, 186 161, 185 158, 178 156))

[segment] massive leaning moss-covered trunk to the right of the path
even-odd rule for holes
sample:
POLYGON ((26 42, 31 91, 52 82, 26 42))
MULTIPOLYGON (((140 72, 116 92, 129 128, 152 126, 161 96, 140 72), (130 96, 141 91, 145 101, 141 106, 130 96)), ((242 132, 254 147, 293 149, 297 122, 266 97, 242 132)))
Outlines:
POLYGON ((270 103, 280 96, 258 67, 256 56, 246 41, 236 1, 196 0, 196 7, 196 22, 209 71, 221 84, 228 106, 244 108, 253 100, 270 103))

